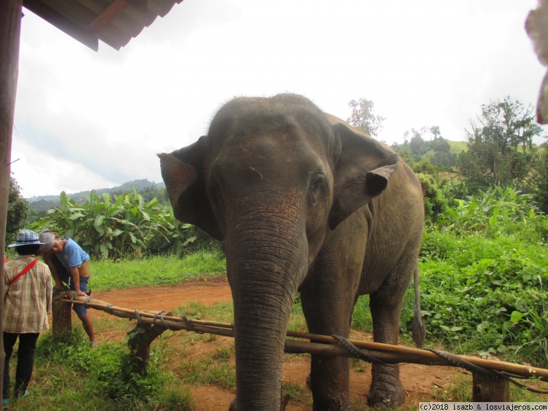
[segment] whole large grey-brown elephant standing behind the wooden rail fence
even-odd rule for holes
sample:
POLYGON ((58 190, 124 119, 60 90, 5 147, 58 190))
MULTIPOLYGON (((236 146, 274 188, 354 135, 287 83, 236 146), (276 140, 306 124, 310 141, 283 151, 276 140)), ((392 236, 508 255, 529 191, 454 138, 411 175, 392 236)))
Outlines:
MULTIPOLYGON (((160 154, 177 219, 225 240, 238 411, 279 410, 297 291, 310 332, 348 337, 359 295, 373 335, 396 344, 418 275, 423 197, 397 155, 308 99, 237 98, 207 136, 160 154)), ((369 402, 403 402, 396 365, 373 365, 369 402)), ((314 410, 350 410, 349 360, 312 356, 314 410)))

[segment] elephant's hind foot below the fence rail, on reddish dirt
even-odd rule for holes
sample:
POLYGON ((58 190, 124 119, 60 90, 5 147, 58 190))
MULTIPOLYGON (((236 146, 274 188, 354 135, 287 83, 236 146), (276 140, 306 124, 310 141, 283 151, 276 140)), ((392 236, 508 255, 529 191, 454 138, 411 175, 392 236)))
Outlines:
POLYGON ((373 382, 369 389, 368 403, 375 408, 396 408, 403 404, 406 395, 399 381, 399 369, 394 366, 384 370, 373 369, 373 382), (384 372, 382 372, 384 371, 384 372))

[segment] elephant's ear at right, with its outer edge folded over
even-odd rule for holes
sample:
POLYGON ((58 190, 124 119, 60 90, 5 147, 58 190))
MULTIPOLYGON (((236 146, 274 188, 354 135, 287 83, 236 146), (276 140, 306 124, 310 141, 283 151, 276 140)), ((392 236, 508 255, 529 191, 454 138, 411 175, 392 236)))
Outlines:
POLYGON ((334 172, 334 199, 329 227, 335 229, 350 214, 381 194, 398 167, 398 155, 345 123, 333 125, 340 140, 334 172))

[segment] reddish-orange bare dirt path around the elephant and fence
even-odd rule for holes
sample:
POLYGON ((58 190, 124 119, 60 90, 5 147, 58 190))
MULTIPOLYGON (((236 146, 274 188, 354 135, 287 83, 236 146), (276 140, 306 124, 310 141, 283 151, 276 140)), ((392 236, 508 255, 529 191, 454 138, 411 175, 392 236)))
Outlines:
MULTIPOLYGON (((94 292, 94 297, 124 308, 166 311, 189 301, 201 301, 203 304, 210 305, 219 301, 231 301, 232 299, 230 288, 224 277, 216 277, 206 281, 185 282, 177 286, 138 287, 129 290, 94 292)), ((96 310, 89 310, 89 312, 92 318, 108 316, 108 314, 96 310)), ((107 330, 98 329, 97 331, 100 332, 103 340, 112 337, 107 330)), ((123 333, 123 330, 121 330, 121 333, 123 333)), ((369 334, 359 334, 357 332, 354 332, 351 337, 360 340, 372 339, 369 334)), ((232 343, 229 338, 226 340, 227 344, 232 343)), ((192 345, 192 351, 195 352, 196 350, 199 351, 196 345, 192 345)), ((173 358, 172 362, 177 362, 177 359, 173 358)), ((291 356, 290 361, 284 362, 284 380, 304 385, 309 366, 307 356, 291 356)), ((367 364, 361 368, 365 371, 360 371, 354 367, 351 369, 351 395, 355 399, 365 401, 365 395, 369 390, 369 384, 371 384, 371 367, 367 364)), ((406 390, 407 399, 401 409, 416 408, 419 406, 420 401, 436 401, 436 393, 438 396, 437 401, 440 401, 440 395, 443 391, 460 379, 463 373, 467 374, 466 371, 447 366, 402 364, 401 380, 403 388, 406 390)), ((234 398, 234 391, 224 390, 216 386, 190 386, 189 388, 197 411, 226 411, 234 398)), ((290 401, 286 409, 296 411, 310 410, 311 408, 290 401)))

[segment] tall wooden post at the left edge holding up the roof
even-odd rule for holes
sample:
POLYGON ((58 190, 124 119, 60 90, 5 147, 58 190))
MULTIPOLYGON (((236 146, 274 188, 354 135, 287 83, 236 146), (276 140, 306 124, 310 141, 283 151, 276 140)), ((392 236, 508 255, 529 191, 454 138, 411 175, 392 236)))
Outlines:
MULTIPOLYGON (((12 157, 12 130, 15 113, 15 95, 19 70, 19 42, 23 0, 0 1, 0 273, 4 272, 5 219, 8 216, 10 192, 10 162, 12 157)), ((3 279, 0 295, 3 295, 3 279)), ((0 313, 3 312, 0 298, 0 313)), ((3 324, 0 318, 0 336, 3 324)), ((4 370, 4 345, 0 338, 0 376, 4 370)), ((3 378, 0 378, 2 388, 3 378)))

